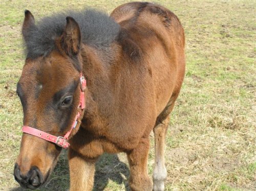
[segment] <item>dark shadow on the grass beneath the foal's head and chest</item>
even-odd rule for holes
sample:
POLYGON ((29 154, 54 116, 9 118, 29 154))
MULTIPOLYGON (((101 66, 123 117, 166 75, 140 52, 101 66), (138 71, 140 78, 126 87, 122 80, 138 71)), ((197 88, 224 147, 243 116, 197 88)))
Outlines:
MULTIPOLYGON (((103 154, 96 162, 93 191, 102 191, 113 181, 116 184, 123 185, 126 191, 129 191, 128 179, 130 171, 128 166, 121 162, 115 154, 103 154)), ((69 189, 69 163, 67 151, 61 153, 59 161, 51 175, 50 181, 37 190, 68 190, 69 189)), ((25 191, 22 187, 11 188, 10 191, 25 191)))

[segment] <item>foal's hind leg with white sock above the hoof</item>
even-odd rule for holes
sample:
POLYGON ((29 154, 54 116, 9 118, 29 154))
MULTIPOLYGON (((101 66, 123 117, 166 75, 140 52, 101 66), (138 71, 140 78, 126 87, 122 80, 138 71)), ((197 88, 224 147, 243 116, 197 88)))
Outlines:
POLYGON ((169 113, 173 110, 174 101, 169 102, 163 112, 158 116, 154 127, 155 136, 155 165, 153 171, 153 190, 163 191, 167 171, 164 164, 165 135, 169 124, 169 113))

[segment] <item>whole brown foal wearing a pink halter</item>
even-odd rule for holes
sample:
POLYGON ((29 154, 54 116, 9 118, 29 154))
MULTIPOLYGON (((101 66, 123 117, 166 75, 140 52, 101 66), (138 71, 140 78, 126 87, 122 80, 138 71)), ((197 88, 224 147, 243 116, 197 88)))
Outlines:
POLYGON ((22 32, 27 58, 17 94, 24 133, 14 168, 20 185, 47 182, 64 147, 70 190, 92 190, 104 152, 127 154, 132 190, 164 190, 164 139, 185 70, 184 32, 174 13, 134 2, 110 17, 70 11, 36 25, 25 11, 22 32), (154 185, 147 175, 152 130, 154 185))

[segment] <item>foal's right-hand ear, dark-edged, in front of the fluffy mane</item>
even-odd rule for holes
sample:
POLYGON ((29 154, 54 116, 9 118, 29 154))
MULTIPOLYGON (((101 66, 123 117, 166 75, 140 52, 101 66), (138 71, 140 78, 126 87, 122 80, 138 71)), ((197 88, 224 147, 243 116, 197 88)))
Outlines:
POLYGON ((81 33, 78 23, 74 18, 68 16, 67 25, 62 35, 61 46, 70 57, 77 55, 80 49, 81 33))

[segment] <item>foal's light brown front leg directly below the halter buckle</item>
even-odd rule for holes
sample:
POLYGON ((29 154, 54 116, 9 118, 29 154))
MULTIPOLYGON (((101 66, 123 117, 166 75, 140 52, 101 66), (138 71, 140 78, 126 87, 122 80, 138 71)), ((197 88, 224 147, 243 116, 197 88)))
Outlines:
POLYGON ((96 159, 83 158, 69 149, 70 191, 91 191, 94 183, 96 159))

